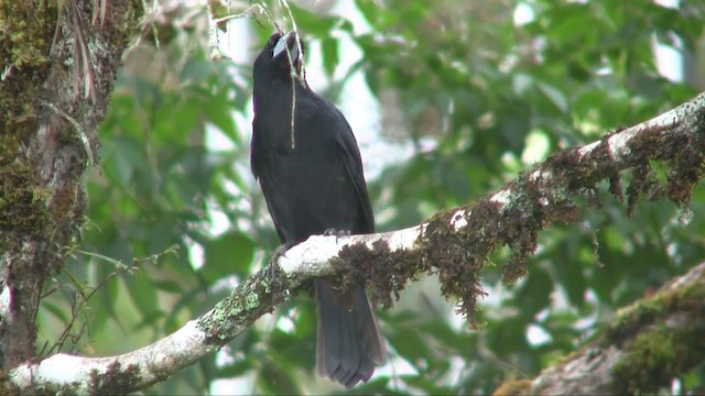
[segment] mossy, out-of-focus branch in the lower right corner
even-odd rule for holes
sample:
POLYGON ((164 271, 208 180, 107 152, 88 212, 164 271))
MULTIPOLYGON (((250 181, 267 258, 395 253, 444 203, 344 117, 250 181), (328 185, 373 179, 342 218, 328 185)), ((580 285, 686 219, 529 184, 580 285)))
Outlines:
POLYGON ((705 263, 619 310, 596 340, 533 381, 507 382, 495 394, 670 393, 672 378, 705 359, 703 331, 705 263))

